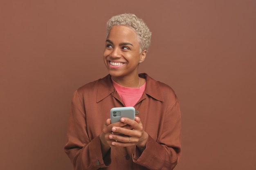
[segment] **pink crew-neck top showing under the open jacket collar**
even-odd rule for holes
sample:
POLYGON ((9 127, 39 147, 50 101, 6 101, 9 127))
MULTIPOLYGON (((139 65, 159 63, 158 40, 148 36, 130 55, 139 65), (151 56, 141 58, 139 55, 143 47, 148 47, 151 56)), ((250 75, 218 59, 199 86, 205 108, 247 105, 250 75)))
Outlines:
POLYGON ((139 101, 146 88, 146 82, 139 88, 121 86, 120 84, 117 84, 117 82, 115 82, 113 79, 112 82, 113 86, 117 90, 117 93, 123 100, 124 106, 135 106, 135 104, 139 101))

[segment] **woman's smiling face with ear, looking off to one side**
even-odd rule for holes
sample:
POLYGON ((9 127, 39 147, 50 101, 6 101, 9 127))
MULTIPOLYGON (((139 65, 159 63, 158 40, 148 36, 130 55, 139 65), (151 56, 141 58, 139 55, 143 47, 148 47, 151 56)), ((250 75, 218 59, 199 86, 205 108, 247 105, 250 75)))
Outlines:
POLYGON ((106 38, 103 59, 112 77, 138 77, 139 62, 146 57, 140 51, 137 34, 128 26, 112 26, 106 38))

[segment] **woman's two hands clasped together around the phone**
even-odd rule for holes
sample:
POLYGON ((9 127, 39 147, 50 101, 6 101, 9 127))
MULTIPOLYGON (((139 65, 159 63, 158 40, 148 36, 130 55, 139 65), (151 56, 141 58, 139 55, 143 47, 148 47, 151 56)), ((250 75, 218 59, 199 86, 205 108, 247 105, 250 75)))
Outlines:
POLYGON ((107 119, 100 134, 100 140, 101 152, 104 157, 112 147, 128 147, 136 145, 137 148, 143 152, 146 147, 146 141, 148 140, 148 134, 144 131, 139 117, 135 117, 135 120, 121 118, 121 121, 114 124, 111 124, 110 119, 107 119), (114 132, 114 135, 112 132, 114 132))

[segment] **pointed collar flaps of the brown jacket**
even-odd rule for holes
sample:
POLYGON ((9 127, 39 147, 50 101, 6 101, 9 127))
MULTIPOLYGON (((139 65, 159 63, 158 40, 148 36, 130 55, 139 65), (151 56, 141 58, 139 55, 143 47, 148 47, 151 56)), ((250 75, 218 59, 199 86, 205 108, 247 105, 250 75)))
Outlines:
MULTIPOLYGON (((150 97, 153 97, 156 100, 163 102, 164 98, 162 96, 162 91, 161 91, 159 82, 149 77, 146 73, 139 74, 139 77, 146 79, 146 89, 144 93, 146 93, 146 95, 149 95, 150 97)), ((102 79, 99 79, 97 103, 105 99, 106 97, 108 97, 108 95, 115 94, 115 93, 116 93, 116 90, 112 84, 110 75, 107 75, 102 79)))

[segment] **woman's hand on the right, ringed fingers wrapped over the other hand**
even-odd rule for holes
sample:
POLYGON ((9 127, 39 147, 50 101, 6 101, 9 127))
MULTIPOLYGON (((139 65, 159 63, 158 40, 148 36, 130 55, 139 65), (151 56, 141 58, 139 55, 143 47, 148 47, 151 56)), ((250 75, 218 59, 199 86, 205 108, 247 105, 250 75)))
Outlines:
POLYGON ((135 120, 129 118, 121 118, 121 122, 130 125, 133 129, 127 129, 122 127, 112 127, 112 132, 118 132, 124 134, 125 136, 121 135, 113 135, 110 134, 109 138, 114 139, 112 141, 113 146, 133 146, 136 145, 140 150, 144 150, 146 146, 146 142, 148 140, 148 133, 144 131, 143 125, 140 121, 139 117, 135 117, 135 120))

